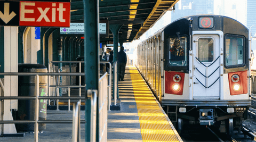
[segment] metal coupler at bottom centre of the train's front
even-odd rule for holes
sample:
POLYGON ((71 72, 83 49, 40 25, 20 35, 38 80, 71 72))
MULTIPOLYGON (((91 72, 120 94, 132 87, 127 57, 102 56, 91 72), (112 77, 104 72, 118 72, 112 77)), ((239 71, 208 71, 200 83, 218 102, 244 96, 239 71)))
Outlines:
POLYGON ((214 117, 213 117, 213 109, 200 109, 199 110, 199 123, 201 125, 213 125, 214 117))

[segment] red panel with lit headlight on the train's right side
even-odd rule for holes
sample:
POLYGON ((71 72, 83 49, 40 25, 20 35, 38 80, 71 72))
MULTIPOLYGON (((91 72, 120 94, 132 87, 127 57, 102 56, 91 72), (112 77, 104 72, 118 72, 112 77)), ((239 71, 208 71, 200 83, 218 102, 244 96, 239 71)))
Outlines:
POLYGON ((239 95, 248 93, 247 89, 247 71, 228 73, 230 95, 239 95))

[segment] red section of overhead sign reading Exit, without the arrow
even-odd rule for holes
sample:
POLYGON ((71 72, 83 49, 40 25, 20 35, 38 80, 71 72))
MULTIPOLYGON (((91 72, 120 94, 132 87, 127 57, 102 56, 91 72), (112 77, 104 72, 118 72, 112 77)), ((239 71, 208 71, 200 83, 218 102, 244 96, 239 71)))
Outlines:
POLYGON ((20 26, 69 27, 70 3, 20 2, 20 26))

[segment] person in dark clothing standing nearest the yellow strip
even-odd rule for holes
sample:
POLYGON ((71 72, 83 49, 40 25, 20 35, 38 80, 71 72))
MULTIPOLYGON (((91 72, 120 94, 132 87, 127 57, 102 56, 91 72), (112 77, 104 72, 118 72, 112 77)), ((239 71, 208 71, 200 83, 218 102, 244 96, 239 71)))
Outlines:
POLYGON ((119 70, 119 80, 124 80, 124 72, 126 66, 127 58, 126 53, 124 52, 124 46, 120 47, 120 51, 118 52, 118 70, 119 70))

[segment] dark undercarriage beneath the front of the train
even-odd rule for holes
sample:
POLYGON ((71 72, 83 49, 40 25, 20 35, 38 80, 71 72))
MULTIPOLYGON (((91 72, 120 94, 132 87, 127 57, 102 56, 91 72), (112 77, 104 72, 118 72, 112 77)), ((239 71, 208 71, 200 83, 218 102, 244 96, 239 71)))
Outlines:
POLYGON ((163 108, 179 133, 184 125, 201 125, 214 126, 221 133, 227 133, 229 136, 233 135, 234 129, 241 130, 242 121, 247 119, 249 109, 247 106, 163 106, 163 108))

